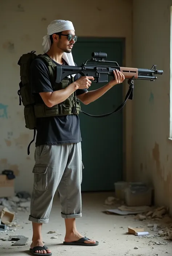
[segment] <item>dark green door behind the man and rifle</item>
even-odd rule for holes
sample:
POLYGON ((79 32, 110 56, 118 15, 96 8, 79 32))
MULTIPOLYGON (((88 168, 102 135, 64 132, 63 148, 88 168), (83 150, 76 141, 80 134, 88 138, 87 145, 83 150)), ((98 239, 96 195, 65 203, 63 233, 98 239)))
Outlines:
MULTIPOLYGON (((72 53, 78 66, 91 59, 92 52, 99 51, 107 53, 106 60, 117 61, 122 66, 123 46, 123 40, 117 38, 78 38, 72 53)), ((89 90, 98 89, 105 84, 92 82, 89 90)), ((122 84, 120 84, 89 105, 81 103, 81 108, 89 114, 105 114, 115 110, 122 101, 122 84)), ((122 112, 123 110, 120 110, 103 118, 79 114, 82 161, 85 167, 82 191, 114 190, 114 182, 122 180, 122 112)))

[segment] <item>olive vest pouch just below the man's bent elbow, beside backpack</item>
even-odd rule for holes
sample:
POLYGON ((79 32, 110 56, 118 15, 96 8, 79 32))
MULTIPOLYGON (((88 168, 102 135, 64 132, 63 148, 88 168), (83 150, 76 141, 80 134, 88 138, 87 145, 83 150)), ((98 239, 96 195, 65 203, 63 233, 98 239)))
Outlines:
POLYGON ((45 104, 34 105, 34 113, 37 118, 39 117, 53 117, 59 114, 58 105, 48 107, 45 104))

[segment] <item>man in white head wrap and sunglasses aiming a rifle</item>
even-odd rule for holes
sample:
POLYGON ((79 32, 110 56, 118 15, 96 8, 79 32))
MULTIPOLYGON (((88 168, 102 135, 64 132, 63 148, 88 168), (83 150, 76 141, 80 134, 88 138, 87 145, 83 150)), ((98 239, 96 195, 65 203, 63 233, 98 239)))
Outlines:
MULTIPOLYGON (((76 41, 75 29, 70 21, 54 20, 48 26, 48 34, 44 37, 44 55, 56 65, 75 65, 71 49, 76 41)), ((37 102, 43 102, 49 108, 65 102, 73 95, 84 104, 89 104, 114 85, 122 83, 124 75, 119 71, 114 71, 114 79, 107 85, 88 91, 91 80, 94 78, 74 75, 73 81, 68 86, 53 90, 54 84, 50 82, 49 70, 44 60, 36 58, 30 68, 32 94, 37 98, 37 102)), ((29 220, 33 225, 30 251, 33 255, 52 255, 43 244, 41 228, 43 223, 48 223, 53 197, 57 189, 60 194, 61 216, 65 219, 64 244, 98 245, 97 241, 83 237, 75 225, 75 218, 82 216, 82 153, 78 114, 37 118, 36 128, 34 188, 29 215, 29 220)))

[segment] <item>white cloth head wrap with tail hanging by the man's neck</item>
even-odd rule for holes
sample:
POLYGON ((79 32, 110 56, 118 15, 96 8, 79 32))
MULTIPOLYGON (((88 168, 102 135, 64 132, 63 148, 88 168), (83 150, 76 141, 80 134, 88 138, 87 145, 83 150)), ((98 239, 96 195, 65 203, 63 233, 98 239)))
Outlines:
MULTIPOLYGON (((74 30, 74 26, 71 21, 69 20, 53 20, 47 28, 47 35, 43 37, 44 41, 42 45, 44 46, 44 52, 48 52, 48 50, 51 47, 51 42, 50 42, 50 35, 58 32, 62 32, 65 30, 74 30)), ((74 61, 73 61, 73 56, 72 53, 63 53, 62 57, 64 60, 67 62, 68 65, 70 66, 75 66, 74 61)), ((72 76, 75 76, 73 74, 72 76)))

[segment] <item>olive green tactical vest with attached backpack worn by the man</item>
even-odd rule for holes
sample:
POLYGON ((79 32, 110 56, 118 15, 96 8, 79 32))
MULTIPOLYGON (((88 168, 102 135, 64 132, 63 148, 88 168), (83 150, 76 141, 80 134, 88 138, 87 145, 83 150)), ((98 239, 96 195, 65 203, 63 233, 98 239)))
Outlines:
POLYGON ((20 77, 21 82, 19 84, 20 89, 18 91, 19 95, 19 105, 24 105, 24 118, 25 127, 28 129, 36 129, 36 118, 40 117, 52 117, 59 115, 70 115, 79 114, 81 111, 81 105, 76 97, 76 92, 72 93, 65 101, 53 106, 48 107, 45 103, 36 103, 35 97, 31 94, 30 85, 30 64, 35 58, 42 58, 49 70, 50 82, 52 84, 53 91, 61 90, 66 88, 69 84, 73 82, 73 77, 66 77, 64 80, 57 84, 56 81, 56 64, 51 60, 49 56, 46 55, 36 55, 34 51, 30 53, 23 54, 19 61, 20 65, 20 77))

